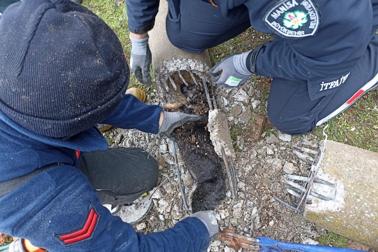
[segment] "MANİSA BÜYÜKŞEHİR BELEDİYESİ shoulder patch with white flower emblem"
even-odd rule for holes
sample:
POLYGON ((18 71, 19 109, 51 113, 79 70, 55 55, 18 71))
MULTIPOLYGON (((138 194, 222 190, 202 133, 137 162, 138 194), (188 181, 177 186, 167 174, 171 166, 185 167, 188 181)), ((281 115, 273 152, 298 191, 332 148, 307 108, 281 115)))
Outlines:
POLYGON ((303 38, 318 31, 319 10, 311 0, 283 0, 269 8, 264 22, 282 37, 303 38))

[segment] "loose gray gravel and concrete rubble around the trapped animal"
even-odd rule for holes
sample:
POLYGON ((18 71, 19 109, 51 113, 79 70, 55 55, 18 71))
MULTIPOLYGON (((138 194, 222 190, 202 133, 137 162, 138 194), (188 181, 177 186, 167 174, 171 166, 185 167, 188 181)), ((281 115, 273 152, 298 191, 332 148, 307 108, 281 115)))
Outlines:
MULTIPOLYGON (((238 199, 230 197, 231 193, 227 187, 226 198, 215 210, 219 226, 234 228, 237 233, 246 236, 262 235, 291 242, 312 242, 311 240, 316 239, 321 231, 318 232, 312 223, 305 221, 301 215, 273 199, 275 196, 291 201, 285 192, 285 183, 282 178, 285 173, 307 176, 309 166, 291 153, 291 146, 300 145, 302 138, 292 138, 290 135, 281 134, 267 124, 266 128, 270 127, 272 129, 270 132, 273 134, 258 142, 248 141, 249 136, 246 132, 252 121, 249 121, 251 111, 258 106, 264 106, 266 109, 265 104, 260 104, 262 99, 260 91, 251 88, 253 86, 253 83, 247 83, 238 89, 215 88, 218 108, 226 114, 229 128, 241 129, 241 134, 236 136, 234 143, 237 151, 233 159, 237 176, 238 199)), ((154 90, 148 95, 146 102, 162 104, 159 97, 160 95, 154 90)), ((169 139, 137 130, 121 129, 114 129, 106 136, 112 142, 111 146, 143 148, 159 163, 158 183, 161 181, 164 183, 152 196, 153 206, 148 216, 141 223, 134 224, 137 230, 145 233, 162 231, 189 215, 182 210, 169 139)), ((318 144, 317 139, 311 135, 307 135, 305 141, 313 146, 318 144)), ((179 153, 178 160, 180 160, 179 153)), ((193 177, 185 170, 182 163, 179 166, 185 185, 185 195, 190 202, 193 177)), ((228 181, 226 183, 228 186, 228 181)), ((209 251, 223 252, 233 251, 233 249, 219 240, 214 240, 211 242, 209 251)))

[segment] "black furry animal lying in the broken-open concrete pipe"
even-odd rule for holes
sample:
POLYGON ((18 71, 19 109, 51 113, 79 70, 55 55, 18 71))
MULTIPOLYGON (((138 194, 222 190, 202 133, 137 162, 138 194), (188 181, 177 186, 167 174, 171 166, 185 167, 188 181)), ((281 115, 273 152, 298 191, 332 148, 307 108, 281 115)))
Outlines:
POLYGON ((188 72, 181 73, 188 86, 182 83, 177 73, 173 74, 177 91, 171 92, 175 94, 171 98, 172 101, 184 101, 184 104, 172 110, 202 115, 202 119, 185 123, 172 133, 172 137, 177 141, 186 168, 195 179, 195 190, 191 195, 193 212, 212 210, 225 196, 222 160, 215 153, 207 131, 209 105, 202 82, 197 78, 199 85, 196 85, 188 72))

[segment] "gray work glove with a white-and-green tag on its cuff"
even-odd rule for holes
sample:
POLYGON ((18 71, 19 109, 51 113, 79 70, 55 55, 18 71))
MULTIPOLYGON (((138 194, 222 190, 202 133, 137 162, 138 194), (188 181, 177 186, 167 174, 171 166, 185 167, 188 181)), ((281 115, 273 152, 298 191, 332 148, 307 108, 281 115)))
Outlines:
POLYGON ((233 54, 218 62, 209 72, 213 82, 226 88, 243 85, 253 75, 245 65, 249 52, 233 54))

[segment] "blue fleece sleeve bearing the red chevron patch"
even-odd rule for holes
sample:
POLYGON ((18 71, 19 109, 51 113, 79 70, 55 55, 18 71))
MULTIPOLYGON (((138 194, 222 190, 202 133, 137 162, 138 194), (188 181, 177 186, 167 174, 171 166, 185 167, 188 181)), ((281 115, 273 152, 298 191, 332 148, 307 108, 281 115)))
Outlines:
POLYGON ((0 232, 48 251, 204 251, 209 245, 205 225, 194 217, 162 232, 135 232, 101 205, 72 166, 47 169, 0 203, 0 232))

